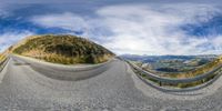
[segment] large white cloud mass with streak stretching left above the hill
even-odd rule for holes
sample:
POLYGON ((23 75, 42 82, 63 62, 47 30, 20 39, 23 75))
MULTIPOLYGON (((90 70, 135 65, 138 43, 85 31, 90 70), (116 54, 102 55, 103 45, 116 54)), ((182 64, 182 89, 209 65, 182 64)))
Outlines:
POLYGON ((221 37, 190 37, 178 26, 208 21, 218 11, 208 4, 122 4, 101 8, 93 18, 61 13, 38 16, 32 21, 43 27, 83 30, 84 36, 119 54, 203 54, 220 53, 221 37), (208 43, 218 49, 199 48, 208 43))

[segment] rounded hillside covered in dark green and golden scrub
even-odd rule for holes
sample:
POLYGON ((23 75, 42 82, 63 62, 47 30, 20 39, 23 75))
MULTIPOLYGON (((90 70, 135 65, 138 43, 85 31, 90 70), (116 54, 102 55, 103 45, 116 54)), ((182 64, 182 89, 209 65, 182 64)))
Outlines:
POLYGON ((74 36, 33 36, 13 46, 12 52, 62 64, 101 63, 114 54, 87 39, 74 36))

